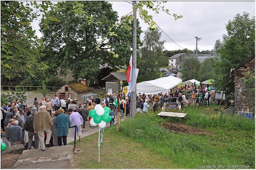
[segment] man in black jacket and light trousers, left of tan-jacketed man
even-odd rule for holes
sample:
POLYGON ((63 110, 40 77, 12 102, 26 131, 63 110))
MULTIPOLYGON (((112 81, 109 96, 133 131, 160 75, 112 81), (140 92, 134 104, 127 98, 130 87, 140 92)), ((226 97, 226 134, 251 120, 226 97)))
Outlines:
POLYGON ((32 108, 31 111, 32 111, 32 114, 26 119, 24 129, 25 131, 28 132, 28 149, 31 149, 33 137, 35 138, 35 149, 38 149, 39 137, 37 133, 34 133, 34 127, 33 127, 33 122, 34 122, 35 114, 37 112, 37 108, 34 107, 32 108))

